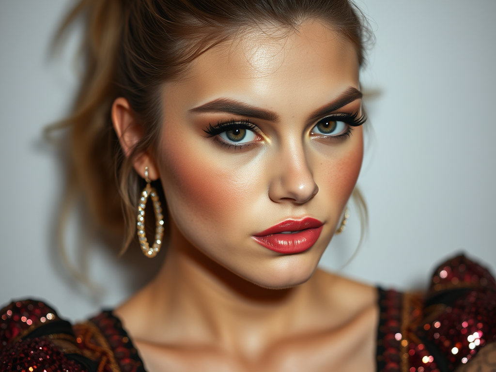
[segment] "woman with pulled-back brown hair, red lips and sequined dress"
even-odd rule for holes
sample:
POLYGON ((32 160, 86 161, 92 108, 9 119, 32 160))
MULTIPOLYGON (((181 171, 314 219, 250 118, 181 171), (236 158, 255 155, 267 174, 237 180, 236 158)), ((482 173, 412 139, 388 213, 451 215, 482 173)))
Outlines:
POLYGON ((441 265, 427 297, 316 269, 346 225, 363 156, 367 29, 353 4, 107 0, 79 12, 74 179, 101 224, 125 225, 126 246, 137 231, 146 256, 167 240, 167 257, 86 323, 34 301, 4 308, 2 368, 423 372, 491 360, 496 283, 467 258, 441 265))

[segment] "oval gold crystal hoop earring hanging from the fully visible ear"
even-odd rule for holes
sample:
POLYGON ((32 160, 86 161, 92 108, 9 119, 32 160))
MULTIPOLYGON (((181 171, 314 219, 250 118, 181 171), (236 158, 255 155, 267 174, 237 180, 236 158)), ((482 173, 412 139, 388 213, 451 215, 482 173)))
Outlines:
POLYGON ((141 251, 147 257, 155 257, 162 247, 162 237, 164 236, 164 215, 162 214, 162 207, 160 205, 160 200, 157 195, 157 190, 150 185, 150 179, 148 178, 148 167, 145 167, 145 181, 146 186, 141 191, 141 197, 138 204, 138 217, 136 228, 138 231, 138 240, 141 251), (148 196, 151 196, 153 202, 153 209, 155 211, 155 242, 150 248, 145 234, 145 208, 148 196))

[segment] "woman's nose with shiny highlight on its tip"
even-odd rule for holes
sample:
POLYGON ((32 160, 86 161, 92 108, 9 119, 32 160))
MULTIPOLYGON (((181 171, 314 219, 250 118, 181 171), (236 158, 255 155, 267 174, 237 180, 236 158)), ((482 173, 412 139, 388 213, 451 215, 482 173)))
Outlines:
POLYGON ((269 185, 269 198, 276 203, 304 204, 318 192, 303 146, 291 146, 276 157, 271 165, 274 177, 269 185))

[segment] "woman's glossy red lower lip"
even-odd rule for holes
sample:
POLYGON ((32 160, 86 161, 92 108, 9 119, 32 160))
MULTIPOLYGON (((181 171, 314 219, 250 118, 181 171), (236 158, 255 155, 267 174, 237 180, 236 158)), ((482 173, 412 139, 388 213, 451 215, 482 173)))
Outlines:
POLYGON ((311 248, 317 241, 322 227, 305 229, 294 234, 271 234, 253 239, 265 248, 278 253, 301 253, 311 248))

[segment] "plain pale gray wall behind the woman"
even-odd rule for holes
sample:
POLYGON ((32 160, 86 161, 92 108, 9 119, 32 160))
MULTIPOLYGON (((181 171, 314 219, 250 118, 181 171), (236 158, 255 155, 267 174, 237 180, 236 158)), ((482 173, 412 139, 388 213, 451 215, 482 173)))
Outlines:
MULTIPOLYGON (((70 3, 0 0, 0 303, 44 298, 77 319, 123 301, 158 263, 141 253, 117 259, 98 242, 88 242, 82 257, 77 213, 69 220, 69 258, 86 257, 99 291, 75 281, 54 249, 63 174, 41 131, 68 112, 77 86, 70 57, 77 38, 59 59, 49 58, 70 3)), ((461 250, 495 272, 496 2, 360 5, 377 39, 363 85, 380 92, 368 102, 373 133, 359 180, 370 234, 342 268, 360 234, 352 209, 349 229, 321 265, 399 289, 426 286, 435 264, 461 250)))

